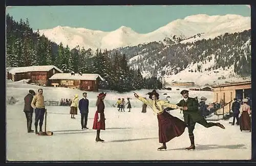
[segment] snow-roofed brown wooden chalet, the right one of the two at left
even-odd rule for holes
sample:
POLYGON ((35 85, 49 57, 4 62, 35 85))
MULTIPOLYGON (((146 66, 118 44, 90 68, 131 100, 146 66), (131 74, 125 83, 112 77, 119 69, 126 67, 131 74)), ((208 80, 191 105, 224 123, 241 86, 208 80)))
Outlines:
POLYGON ((99 81, 104 80, 99 74, 56 73, 49 78, 50 85, 84 91, 98 92, 99 81))

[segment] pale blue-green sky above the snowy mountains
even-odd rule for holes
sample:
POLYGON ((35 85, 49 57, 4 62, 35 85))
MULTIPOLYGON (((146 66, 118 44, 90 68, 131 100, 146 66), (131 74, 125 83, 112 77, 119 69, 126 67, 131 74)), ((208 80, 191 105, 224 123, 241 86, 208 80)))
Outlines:
POLYGON ((11 6, 6 13, 16 21, 28 18, 33 30, 60 25, 110 32, 127 26, 141 34, 189 15, 251 14, 249 5, 11 6))

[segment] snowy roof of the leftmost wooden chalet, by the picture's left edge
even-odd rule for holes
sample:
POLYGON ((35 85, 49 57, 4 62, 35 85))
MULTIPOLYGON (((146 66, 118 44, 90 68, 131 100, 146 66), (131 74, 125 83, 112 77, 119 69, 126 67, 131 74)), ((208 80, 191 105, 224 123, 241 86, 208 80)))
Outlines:
POLYGON ((47 66, 27 66, 27 67, 10 67, 7 68, 7 71, 11 74, 15 73, 23 73, 23 72, 30 72, 30 71, 49 71, 52 68, 56 69, 57 71, 63 73, 62 70, 57 68, 54 65, 47 65, 47 66))

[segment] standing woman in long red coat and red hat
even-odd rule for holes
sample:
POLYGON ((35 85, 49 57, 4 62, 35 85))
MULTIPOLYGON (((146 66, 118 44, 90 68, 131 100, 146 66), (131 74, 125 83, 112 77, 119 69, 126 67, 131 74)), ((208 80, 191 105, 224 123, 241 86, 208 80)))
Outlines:
POLYGON ((95 112, 94 121, 93 121, 93 129, 97 130, 96 135, 96 142, 103 142, 104 140, 101 140, 99 137, 100 130, 105 130, 105 116, 104 116, 104 98, 106 96, 106 93, 101 92, 97 96, 96 106, 97 110, 95 112))

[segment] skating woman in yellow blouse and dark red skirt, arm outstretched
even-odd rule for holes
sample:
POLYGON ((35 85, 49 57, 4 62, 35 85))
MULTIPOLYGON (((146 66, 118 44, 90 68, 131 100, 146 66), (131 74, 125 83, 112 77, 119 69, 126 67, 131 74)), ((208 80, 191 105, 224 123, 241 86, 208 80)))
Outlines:
POLYGON ((180 136, 186 127, 186 124, 177 117, 174 117, 168 114, 163 110, 163 106, 172 107, 174 109, 182 108, 176 104, 170 104, 165 100, 158 100, 159 94, 156 90, 148 93, 151 100, 146 100, 143 97, 138 96, 134 93, 134 96, 146 105, 151 106, 155 115, 158 119, 158 128, 159 128, 159 142, 163 145, 158 148, 158 150, 166 149, 166 143, 172 140, 176 136, 180 136))

